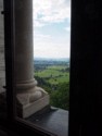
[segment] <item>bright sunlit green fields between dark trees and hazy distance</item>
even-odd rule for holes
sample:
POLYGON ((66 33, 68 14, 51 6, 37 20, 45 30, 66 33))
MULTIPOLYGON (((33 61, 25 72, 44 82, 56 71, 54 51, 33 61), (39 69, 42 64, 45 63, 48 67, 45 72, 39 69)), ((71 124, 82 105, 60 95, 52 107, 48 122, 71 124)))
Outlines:
POLYGON ((35 75, 52 85, 67 83, 69 82, 69 72, 65 71, 65 69, 67 69, 66 65, 48 66, 46 70, 35 72, 35 75))

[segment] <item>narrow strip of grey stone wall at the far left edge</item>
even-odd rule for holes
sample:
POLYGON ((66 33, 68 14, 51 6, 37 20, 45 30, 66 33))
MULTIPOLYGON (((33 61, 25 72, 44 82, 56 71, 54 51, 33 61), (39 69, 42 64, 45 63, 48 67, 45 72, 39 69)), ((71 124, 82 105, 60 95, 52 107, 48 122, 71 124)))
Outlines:
POLYGON ((0 92, 5 85, 5 66, 4 66, 4 32, 3 32, 3 0, 0 0, 0 92))

